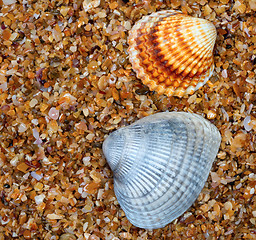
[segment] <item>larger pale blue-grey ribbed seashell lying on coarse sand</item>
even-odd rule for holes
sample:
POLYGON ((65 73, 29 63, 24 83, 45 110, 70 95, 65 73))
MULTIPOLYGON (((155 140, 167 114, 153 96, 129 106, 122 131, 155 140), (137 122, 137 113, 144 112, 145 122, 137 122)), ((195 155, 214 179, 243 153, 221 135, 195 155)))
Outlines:
POLYGON ((162 228, 197 199, 220 146, 220 133, 197 114, 164 112, 111 133, 103 152, 128 220, 162 228))

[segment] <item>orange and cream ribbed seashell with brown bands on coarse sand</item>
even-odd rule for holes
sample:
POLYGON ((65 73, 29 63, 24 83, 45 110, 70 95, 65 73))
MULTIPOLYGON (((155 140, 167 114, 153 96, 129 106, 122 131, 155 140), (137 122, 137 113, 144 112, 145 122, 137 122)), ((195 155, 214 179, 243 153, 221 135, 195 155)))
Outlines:
POLYGON ((129 59, 150 90, 182 97, 201 88, 214 69, 216 29, 205 19, 165 10, 143 17, 129 34, 129 59))

